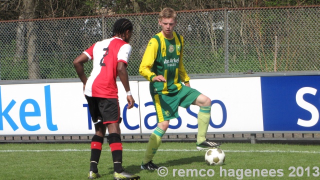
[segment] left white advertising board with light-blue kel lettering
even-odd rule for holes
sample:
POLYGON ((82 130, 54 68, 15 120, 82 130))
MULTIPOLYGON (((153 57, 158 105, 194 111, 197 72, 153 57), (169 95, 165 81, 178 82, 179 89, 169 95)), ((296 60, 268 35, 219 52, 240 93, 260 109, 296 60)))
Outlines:
MULTIPOLYGON (((119 103, 124 109, 126 92, 120 85, 119 94, 124 96, 119 103)), ((137 81, 130 81, 130 86, 138 101, 137 81)), ((0 134, 94 134, 81 82, 0 85, 0 112, 0 134)), ((129 124, 139 124, 138 108, 126 113, 129 124)), ((140 133, 120 125, 122 133, 140 133)))

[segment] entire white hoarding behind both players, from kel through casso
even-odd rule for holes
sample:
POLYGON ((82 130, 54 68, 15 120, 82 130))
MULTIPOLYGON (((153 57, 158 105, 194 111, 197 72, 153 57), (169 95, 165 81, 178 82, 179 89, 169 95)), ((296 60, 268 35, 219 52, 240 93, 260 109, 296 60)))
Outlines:
MULTIPOLYGON (((208 132, 263 131, 260 77, 192 79, 211 99, 208 132)), ((134 107, 117 82, 122 134, 151 133, 156 126, 148 81, 130 81, 134 107)), ((179 107, 168 133, 197 132, 199 107, 179 107)), ((5 135, 93 134, 81 82, 0 85, 0 133, 5 135)))

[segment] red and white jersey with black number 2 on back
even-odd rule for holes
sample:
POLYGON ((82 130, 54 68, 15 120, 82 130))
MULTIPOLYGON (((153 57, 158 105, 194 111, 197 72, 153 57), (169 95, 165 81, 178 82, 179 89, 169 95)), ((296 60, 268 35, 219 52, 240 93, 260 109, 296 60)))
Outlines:
POLYGON ((127 64, 131 45, 121 38, 112 37, 94 43, 83 53, 89 57, 89 60, 93 60, 93 69, 86 81, 84 94, 93 97, 118 98, 117 62, 127 64))

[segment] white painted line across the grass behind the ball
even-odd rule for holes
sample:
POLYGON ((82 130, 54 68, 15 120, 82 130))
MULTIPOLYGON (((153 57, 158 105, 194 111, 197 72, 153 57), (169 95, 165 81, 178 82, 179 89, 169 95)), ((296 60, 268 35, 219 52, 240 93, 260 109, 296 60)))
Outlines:
MULTIPOLYGON (((66 152, 66 151, 90 151, 90 149, 42 149, 42 150, 0 150, 0 152, 66 152)), ((107 149, 105 151, 110 151, 107 149)), ((145 149, 123 149, 123 151, 145 151, 145 149)), ((197 151, 195 149, 158 149, 157 151, 184 151, 184 152, 191 152, 197 151)), ((315 153, 320 154, 320 151, 307 151, 307 150, 225 150, 224 152, 282 152, 282 153, 315 153)))

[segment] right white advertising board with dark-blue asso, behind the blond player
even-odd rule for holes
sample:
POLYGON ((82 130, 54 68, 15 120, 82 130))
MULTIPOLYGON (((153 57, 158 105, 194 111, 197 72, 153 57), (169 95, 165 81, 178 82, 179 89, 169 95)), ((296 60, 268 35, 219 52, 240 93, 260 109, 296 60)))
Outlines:
MULTIPOLYGON (((151 133, 153 128, 150 127, 156 123, 148 84, 147 81, 139 82, 139 94, 143 94, 140 95, 142 133, 151 133)), ((192 79, 190 85, 211 99, 208 132, 263 130, 259 77, 192 79)), ((171 119, 173 128, 166 132, 197 132, 198 111, 199 107, 195 105, 189 109, 179 107, 180 119, 171 119)))

